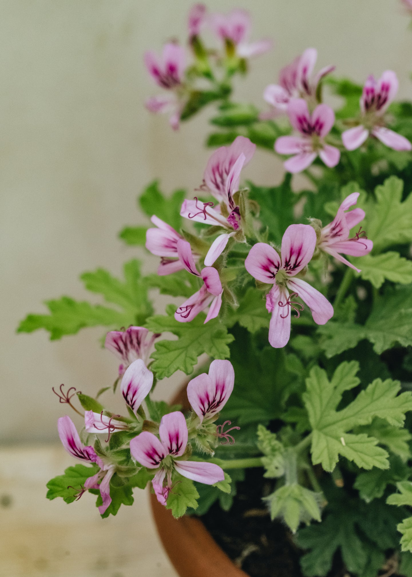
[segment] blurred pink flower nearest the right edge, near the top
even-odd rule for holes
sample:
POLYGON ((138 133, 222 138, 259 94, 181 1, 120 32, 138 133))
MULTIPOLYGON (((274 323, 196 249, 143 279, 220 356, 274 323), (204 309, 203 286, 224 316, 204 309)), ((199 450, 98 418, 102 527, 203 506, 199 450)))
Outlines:
POLYGON ((373 76, 366 80, 361 96, 361 123, 345 130, 342 141, 348 150, 364 144, 369 134, 394 150, 411 150, 412 144, 404 136, 385 127, 384 114, 398 92, 398 78, 392 70, 386 70, 376 81, 373 76))

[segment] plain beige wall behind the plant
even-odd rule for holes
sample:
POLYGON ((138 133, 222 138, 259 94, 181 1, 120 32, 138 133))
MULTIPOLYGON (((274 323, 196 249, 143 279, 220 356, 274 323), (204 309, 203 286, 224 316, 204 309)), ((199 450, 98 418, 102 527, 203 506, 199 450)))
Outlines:
MULTIPOLYGON (((164 190, 193 189, 209 152, 202 148, 211 111, 173 133, 145 111, 157 92, 143 68, 144 50, 185 38, 192 2, 179 0, 1 0, 1 385, 3 443, 57 439, 62 414, 53 385, 89 394, 111 384, 117 361, 99 348, 101 329, 49 342, 46 332, 16 335, 28 312, 62 294, 85 298, 78 274, 123 261, 156 259, 125 247, 117 233, 145 222, 136 195, 153 178, 164 190)), ((211 0, 211 10, 252 12, 255 39, 275 39, 238 83, 239 99, 260 104, 279 69, 309 46, 319 66, 363 81, 391 68, 399 94, 411 96, 412 32, 396 0, 211 0)), ((278 182, 282 167, 258 152, 245 177, 278 182)), ((164 301, 158 302, 162 309, 164 301)), ((181 376, 162 381, 169 397, 181 376)), ((80 424, 80 421, 79 421, 80 424)))

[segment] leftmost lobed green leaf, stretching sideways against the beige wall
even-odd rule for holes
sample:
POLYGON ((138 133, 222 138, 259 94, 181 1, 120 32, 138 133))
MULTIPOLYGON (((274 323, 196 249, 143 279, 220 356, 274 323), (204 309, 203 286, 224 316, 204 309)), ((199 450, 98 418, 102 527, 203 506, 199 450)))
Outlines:
POLYGON ((50 332, 50 340, 63 335, 75 335, 85 327, 121 327, 129 324, 129 317, 106 306, 77 302, 70 297, 45 301, 50 314, 28 314, 18 325, 17 332, 33 332, 40 328, 50 332))

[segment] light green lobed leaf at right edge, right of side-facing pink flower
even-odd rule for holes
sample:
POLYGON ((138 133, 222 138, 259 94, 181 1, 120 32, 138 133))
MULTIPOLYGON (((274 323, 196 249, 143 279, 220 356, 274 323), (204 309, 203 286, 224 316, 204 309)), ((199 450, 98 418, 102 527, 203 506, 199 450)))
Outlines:
POLYGON ((402 202, 403 181, 395 176, 375 189, 376 203, 368 204, 366 230, 373 253, 412 241, 412 194, 402 202))

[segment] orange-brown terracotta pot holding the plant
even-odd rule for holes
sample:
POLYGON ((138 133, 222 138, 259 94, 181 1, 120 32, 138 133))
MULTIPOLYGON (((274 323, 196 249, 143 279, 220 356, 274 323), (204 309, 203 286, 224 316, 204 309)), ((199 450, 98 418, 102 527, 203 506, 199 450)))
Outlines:
MULTIPOLYGON (((189 408, 186 386, 172 399, 172 404, 176 403, 189 408)), ((150 501, 159 537, 180 577, 248 577, 220 549, 200 519, 174 519, 154 494, 150 501)))

